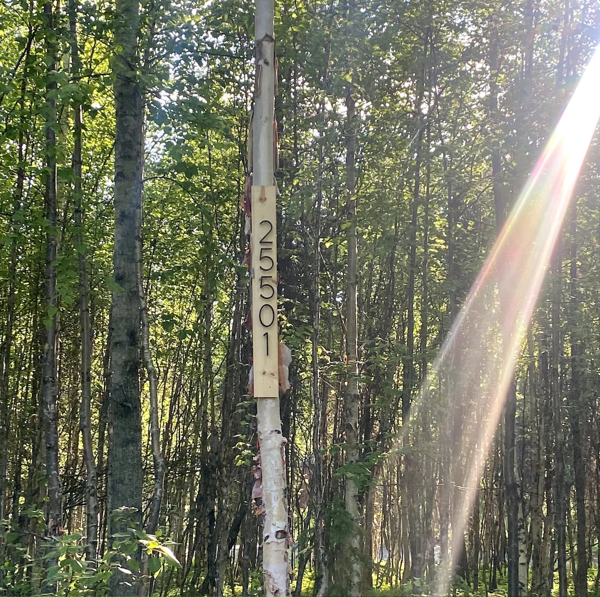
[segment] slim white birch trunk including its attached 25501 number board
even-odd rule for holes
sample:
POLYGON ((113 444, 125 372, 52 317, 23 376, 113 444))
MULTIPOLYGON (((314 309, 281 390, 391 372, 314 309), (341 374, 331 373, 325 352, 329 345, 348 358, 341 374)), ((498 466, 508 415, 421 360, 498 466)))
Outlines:
POLYGON ((251 279, 253 286, 254 397, 262 468, 263 588, 289 595, 285 438, 281 433, 278 383, 277 230, 274 186, 275 39, 274 0, 256 0, 256 82, 252 121, 253 174, 251 279))

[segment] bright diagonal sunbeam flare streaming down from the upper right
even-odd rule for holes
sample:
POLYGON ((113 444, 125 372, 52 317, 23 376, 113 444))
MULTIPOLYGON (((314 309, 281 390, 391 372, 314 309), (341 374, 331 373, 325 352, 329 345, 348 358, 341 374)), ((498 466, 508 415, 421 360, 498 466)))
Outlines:
MULTIPOLYGON (((451 479, 445 480, 442 491, 454 494, 452 560, 457 559, 485 458, 514 380, 515 362, 600 118, 599 97, 600 51, 596 49, 472 286, 412 417, 418 424, 433 380, 443 378, 447 421, 442 437, 448 441, 451 479), (463 420, 469 420, 475 436, 464 437, 463 420)), ((455 563, 449 561, 438 569, 440 595, 448 594, 455 563)))

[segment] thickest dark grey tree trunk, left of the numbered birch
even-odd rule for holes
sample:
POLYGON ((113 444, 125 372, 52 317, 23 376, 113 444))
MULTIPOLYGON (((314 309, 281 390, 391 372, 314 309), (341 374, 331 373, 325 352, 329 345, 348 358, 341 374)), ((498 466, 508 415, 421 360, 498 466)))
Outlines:
MULTIPOLYGON (((137 0, 117 0, 113 57, 116 103, 115 138, 115 282, 110 344, 110 444, 107 499, 109 533, 139 526, 142 515, 142 420, 140 405, 140 295, 138 243, 142 210, 143 97, 137 77, 137 0), (113 515, 128 508, 121 520, 113 515)), ((125 583, 118 571, 113 594, 138 595, 137 583, 125 583)))

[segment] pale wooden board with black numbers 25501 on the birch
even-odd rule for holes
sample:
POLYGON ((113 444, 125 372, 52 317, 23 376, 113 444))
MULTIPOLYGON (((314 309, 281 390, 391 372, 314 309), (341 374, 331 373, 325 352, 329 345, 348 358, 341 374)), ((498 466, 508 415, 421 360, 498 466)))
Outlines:
POLYGON ((252 187, 250 273, 254 398, 279 397, 276 197, 274 186, 252 187))

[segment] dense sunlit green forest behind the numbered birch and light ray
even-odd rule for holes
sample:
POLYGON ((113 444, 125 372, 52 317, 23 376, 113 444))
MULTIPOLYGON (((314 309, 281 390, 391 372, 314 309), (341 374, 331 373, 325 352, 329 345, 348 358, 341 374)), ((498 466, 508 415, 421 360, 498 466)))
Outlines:
MULTIPOLYGON (((463 456, 451 454, 478 429, 468 408, 448 413, 451 376, 423 399, 419 388, 592 55, 600 7, 286 0, 276 10, 292 588, 347 595, 358 562, 364 592, 427 592, 459 534, 463 488, 449 475, 463 456)), ((100 595, 127 577, 131 594, 261 594, 240 207, 253 12, 228 0, 0 7, 5 595, 100 595), (127 220, 115 160, 135 144, 116 134, 119 101, 143 116, 145 148, 143 209, 130 218, 141 234, 125 233, 139 279, 127 289, 113 262, 127 220), (122 311, 115 323, 127 292, 141 410, 119 419, 111 372, 115 335, 130 329, 122 311), (111 480, 111 447, 132 429, 140 456, 111 480), (139 494, 140 511, 107 526, 121 490, 139 494)), ((506 593, 511 558, 520 595, 598 592, 599 160, 596 135, 509 407, 481 456, 454 592, 506 593)))

